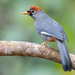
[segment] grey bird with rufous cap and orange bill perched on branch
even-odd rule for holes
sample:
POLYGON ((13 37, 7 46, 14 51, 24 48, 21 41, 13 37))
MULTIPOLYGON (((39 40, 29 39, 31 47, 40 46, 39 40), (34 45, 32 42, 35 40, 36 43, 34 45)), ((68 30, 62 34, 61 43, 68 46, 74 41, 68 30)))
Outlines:
POLYGON ((45 41, 42 44, 43 46, 48 42, 57 42, 63 70, 65 72, 71 71, 72 62, 65 42, 65 40, 67 40, 67 42, 69 42, 69 40, 64 28, 38 6, 32 6, 27 12, 23 12, 22 14, 30 15, 33 18, 36 31, 45 41))

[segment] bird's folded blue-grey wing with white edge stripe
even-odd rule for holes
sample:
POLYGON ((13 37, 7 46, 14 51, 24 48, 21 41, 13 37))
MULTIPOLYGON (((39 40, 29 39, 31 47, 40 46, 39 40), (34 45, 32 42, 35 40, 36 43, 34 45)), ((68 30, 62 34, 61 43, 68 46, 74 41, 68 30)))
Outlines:
POLYGON ((61 41, 63 40, 68 41, 68 37, 63 27, 55 20, 48 18, 48 19, 45 19, 43 22, 40 22, 40 25, 41 26, 38 29, 40 30, 41 33, 43 34, 45 33, 44 35, 55 37, 61 41))

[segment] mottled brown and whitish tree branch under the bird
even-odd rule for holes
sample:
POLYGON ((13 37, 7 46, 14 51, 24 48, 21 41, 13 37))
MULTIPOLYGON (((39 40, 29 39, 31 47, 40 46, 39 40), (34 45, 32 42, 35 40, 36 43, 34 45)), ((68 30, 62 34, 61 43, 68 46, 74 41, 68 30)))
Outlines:
MULTIPOLYGON (((39 57, 61 63, 58 50, 29 42, 0 41, 0 56, 39 57)), ((70 54, 70 57, 75 70, 75 55, 70 54)))

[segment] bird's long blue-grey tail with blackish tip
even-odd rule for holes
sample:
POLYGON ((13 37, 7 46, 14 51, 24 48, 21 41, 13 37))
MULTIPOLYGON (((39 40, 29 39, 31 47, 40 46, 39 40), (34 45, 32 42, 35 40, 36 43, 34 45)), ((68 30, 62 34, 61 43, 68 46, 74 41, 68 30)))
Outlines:
POLYGON ((64 71, 71 71, 72 63, 65 41, 57 40, 58 48, 61 55, 61 61, 64 71))

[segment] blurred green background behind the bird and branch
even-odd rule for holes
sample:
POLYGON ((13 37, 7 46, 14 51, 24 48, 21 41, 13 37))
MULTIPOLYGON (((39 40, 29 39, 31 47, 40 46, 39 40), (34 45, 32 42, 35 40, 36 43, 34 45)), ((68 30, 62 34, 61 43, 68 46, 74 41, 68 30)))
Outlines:
MULTIPOLYGON (((22 15, 31 6, 39 6, 65 29, 70 53, 75 54, 75 0, 0 0, 0 40, 41 44, 43 39, 30 16, 22 15)), ((57 48, 56 43, 47 46, 57 48)), ((0 56, 0 75, 75 75, 50 60, 20 56, 0 56)))

